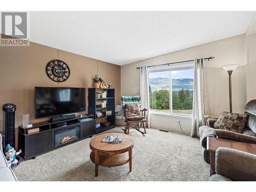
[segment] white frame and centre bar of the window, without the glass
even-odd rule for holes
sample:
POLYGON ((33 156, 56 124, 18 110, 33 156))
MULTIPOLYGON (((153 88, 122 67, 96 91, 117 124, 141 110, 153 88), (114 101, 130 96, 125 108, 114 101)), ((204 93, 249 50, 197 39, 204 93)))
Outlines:
MULTIPOLYGON (((172 82, 172 71, 181 71, 181 70, 189 70, 193 69, 194 70, 194 62, 185 62, 185 63, 178 63, 175 65, 168 65, 168 66, 156 66, 150 68, 148 70, 148 75, 150 73, 157 73, 157 72, 167 72, 169 71, 169 84, 170 84, 170 89, 169 89, 169 112, 168 113, 157 113, 157 112, 151 112, 150 114, 152 115, 162 115, 162 116, 173 116, 173 117, 185 117, 185 118, 192 118, 192 114, 182 114, 182 113, 173 113, 173 82, 172 82)), ((195 71, 194 71, 195 73, 195 71)), ((194 78, 193 78, 194 79, 194 78)), ((149 80, 149 79, 148 79, 149 80)), ((194 92, 194 88, 193 88, 194 92)), ((194 96, 194 93, 193 93, 194 96)))

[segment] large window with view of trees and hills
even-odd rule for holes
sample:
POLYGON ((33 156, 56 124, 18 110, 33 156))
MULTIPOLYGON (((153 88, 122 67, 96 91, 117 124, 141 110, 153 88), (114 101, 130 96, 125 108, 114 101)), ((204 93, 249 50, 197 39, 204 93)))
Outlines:
POLYGON ((193 63, 150 69, 150 110, 159 114, 192 115, 193 63))

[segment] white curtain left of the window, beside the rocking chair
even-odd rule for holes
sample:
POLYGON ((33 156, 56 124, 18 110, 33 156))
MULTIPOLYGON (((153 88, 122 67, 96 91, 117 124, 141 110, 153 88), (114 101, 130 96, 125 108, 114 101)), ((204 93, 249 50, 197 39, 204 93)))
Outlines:
POLYGON ((148 81, 147 66, 140 68, 140 97, 141 97, 141 109, 146 108, 147 127, 150 128, 150 83, 148 81))

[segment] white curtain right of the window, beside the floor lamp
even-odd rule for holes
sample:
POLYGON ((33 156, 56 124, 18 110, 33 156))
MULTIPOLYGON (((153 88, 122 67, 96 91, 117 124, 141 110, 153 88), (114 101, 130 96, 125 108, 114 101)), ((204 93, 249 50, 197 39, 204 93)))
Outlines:
POLYGON ((205 125, 204 115, 209 114, 208 94, 204 59, 195 59, 194 63, 194 93, 193 119, 191 137, 199 137, 199 127, 205 125))

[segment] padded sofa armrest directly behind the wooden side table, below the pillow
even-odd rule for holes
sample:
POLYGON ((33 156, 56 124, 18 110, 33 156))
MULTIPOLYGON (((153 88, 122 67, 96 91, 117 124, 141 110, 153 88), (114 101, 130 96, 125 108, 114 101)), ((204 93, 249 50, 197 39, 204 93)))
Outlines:
POLYGON ((213 133, 216 137, 222 138, 222 139, 231 139, 231 140, 242 141, 246 143, 254 143, 254 144, 256 143, 256 137, 244 135, 241 133, 235 133, 235 132, 219 130, 219 129, 215 129, 213 133))

